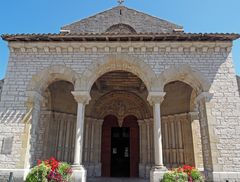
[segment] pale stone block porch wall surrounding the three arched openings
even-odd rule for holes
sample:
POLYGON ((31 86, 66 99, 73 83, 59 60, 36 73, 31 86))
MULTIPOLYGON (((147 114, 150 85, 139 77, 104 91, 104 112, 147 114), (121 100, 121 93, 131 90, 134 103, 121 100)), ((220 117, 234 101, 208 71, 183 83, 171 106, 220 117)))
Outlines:
MULTIPOLYGON (((234 174, 237 175, 237 172, 240 171, 238 155, 240 150, 240 112, 238 110, 240 97, 232 63, 230 42, 142 42, 131 44, 120 42, 22 44, 12 42, 10 50, 0 111, 5 113, 5 117, 12 118, 16 124, 2 119, 1 129, 4 132, 0 134, 0 137, 12 135, 17 130, 13 153, 16 156, 9 158, 1 156, 0 168, 16 168, 17 161, 20 160, 17 151, 21 147, 20 133, 23 127, 17 122, 27 111, 25 103, 28 99, 26 90, 31 89, 29 84, 48 76, 38 74, 39 72, 43 71, 44 74, 48 73, 55 77, 58 74, 64 75, 65 68, 67 68, 79 78, 84 78, 84 74, 88 78, 87 76, 91 76, 91 72, 94 72, 95 76, 91 79, 101 76, 103 71, 116 69, 131 71, 145 81, 148 89, 156 88, 156 85, 150 85, 151 82, 147 82, 148 76, 152 72, 159 78, 158 80, 163 80, 162 83, 164 80, 174 81, 175 79, 187 82, 196 89, 198 89, 196 80, 205 78, 210 84, 209 92, 213 93, 213 97, 209 101, 211 107, 207 113, 211 116, 208 124, 211 125, 209 135, 212 151, 209 152, 213 154, 215 177, 220 178, 221 174, 230 174, 227 172, 235 172, 234 174), (108 58, 109 61, 106 61, 108 58), (52 65, 57 66, 53 67, 52 65), (51 70, 51 68, 53 69, 51 70), (145 70, 145 74, 139 72, 140 68, 145 70), (98 69, 99 71, 97 71, 98 69), (47 71, 44 72, 44 70, 47 71), (42 77, 38 77, 38 75, 42 77), (192 75, 199 75, 199 77, 191 77, 192 75), (12 112, 17 113, 17 117, 11 115, 12 112), (5 161, 8 161, 10 166, 5 161)), ((69 75, 69 73, 65 75, 69 75)), ((68 79, 73 80, 70 76, 68 79)), ((44 81, 40 80, 35 84, 41 86, 44 85, 44 81)), ((91 83, 91 80, 89 82, 91 83)), ((79 84, 76 82, 75 89, 78 86, 79 84)), ((199 88, 198 91, 200 90, 199 88)))

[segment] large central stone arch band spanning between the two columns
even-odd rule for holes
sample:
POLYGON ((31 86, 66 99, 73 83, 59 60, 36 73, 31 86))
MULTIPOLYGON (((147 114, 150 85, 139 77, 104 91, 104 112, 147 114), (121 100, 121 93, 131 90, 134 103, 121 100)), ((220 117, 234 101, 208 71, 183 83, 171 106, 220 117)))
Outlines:
POLYGON ((93 83, 103 74, 111 71, 128 71, 138 76, 148 91, 157 87, 157 76, 152 68, 143 60, 128 55, 110 55, 95 61, 81 75, 81 90, 90 91, 93 83))

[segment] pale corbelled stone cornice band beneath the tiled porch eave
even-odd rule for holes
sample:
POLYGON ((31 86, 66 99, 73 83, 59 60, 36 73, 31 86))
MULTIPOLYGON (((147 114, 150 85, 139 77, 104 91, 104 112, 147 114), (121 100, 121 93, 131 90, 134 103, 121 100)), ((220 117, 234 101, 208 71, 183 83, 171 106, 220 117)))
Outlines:
POLYGON ((42 43, 20 43, 9 42, 10 52, 14 53, 159 53, 159 52, 230 52, 232 49, 231 42, 47 42, 42 43))

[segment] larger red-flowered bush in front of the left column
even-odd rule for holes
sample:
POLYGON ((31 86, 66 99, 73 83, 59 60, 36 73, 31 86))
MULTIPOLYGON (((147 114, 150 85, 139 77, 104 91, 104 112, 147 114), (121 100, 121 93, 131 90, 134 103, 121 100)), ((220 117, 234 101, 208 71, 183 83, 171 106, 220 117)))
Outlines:
POLYGON ((28 174, 27 182, 69 182, 72 176, 71 166, 64 162, 57 161, 54 157, 48 160, 38 160, 28 174))

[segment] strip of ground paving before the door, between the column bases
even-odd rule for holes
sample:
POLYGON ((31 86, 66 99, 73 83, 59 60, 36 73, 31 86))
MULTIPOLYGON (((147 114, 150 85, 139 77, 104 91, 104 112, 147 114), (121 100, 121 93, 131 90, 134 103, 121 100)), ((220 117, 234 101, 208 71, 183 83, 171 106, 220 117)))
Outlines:
POLYGON ((87 182, 149 182, 147 179, 141 178, 88 178, 87 182))

